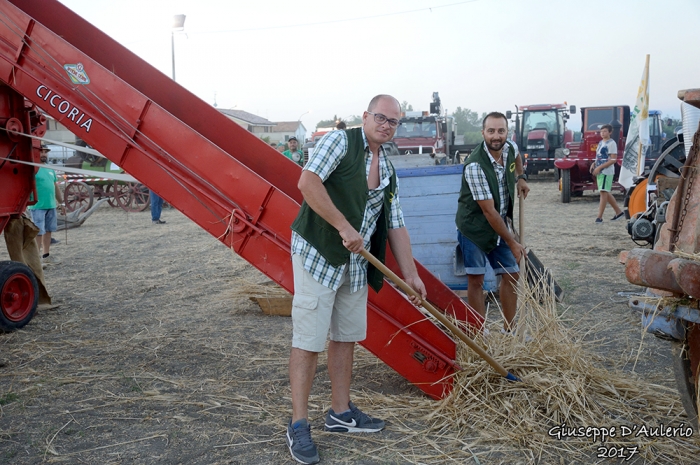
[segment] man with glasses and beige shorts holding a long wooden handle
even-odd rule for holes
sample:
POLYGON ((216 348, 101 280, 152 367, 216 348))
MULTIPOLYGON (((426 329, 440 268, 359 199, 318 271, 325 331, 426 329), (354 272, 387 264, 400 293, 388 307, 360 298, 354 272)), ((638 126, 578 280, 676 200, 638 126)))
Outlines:
MULTIPOLYGON (((404 279, 426 297, 404 226, 396 172, 382 148, 394 136, 400 115, 394 97, 374 97, 361 128, 330 131, 319 140, 299 179, 304 202, 292 224, 292 418, 287 446, 300 463, 319 461, 307 420, 308 398, 329 329, 332 394, 325 429, 366 433, 384 428, 382 420, 350 401, 355 343, 367 334, 367 286, 378 291, 383 282, 359 253, 368 249, 384 261, 388 239, 404 279)), ((411 301, 420 303, 419 298, 411 301)))

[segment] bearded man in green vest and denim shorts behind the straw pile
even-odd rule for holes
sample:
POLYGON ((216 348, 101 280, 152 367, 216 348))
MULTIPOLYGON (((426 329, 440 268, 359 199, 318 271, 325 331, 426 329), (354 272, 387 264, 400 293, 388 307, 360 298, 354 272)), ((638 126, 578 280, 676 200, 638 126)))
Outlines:
POLYGON ((467 271, 467 300, 486 316, 483 295, 486 260, 501 275, 499 298, 504 333, 512 331, 518 303, 518 263, 524 255, 512 229, 516 194, 527 197, 530 188, 515 144, 508 141, 508 120, 498 112, 482 122, 480 144, 464 163, 457 204, 457 238, 467 271), (517 183, 517 185, 516 185, 517 183))

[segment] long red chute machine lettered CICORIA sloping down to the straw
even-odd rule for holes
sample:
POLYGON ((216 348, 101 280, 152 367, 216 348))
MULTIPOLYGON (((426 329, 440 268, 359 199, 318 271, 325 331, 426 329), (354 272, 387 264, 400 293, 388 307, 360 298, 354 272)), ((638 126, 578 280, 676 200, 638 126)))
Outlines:
MULTIPOLYGON (((290 225, 302 201, 296 163, 58 1, 0 0, 0 13, 6 129, 31 133, 26 98, 293 292, 290 225)), ((31 158, 29 142, 13 152, 13 143, 3 140, 9 161, 0 171, 0 212, 9 218, 24 209, 34 170, 14 162, 31 158)), ((399 272, 393 256, 387 265, 399 272)), ((457 295, 417 266, 432 303, 481 325, 457 295)), ((0 286, 3 302, 17 294, 0 286)), ((367 310, 362 345, 429 396, 449 392, 459 369, 455 341, 390 285, 370 290, 367 310)))

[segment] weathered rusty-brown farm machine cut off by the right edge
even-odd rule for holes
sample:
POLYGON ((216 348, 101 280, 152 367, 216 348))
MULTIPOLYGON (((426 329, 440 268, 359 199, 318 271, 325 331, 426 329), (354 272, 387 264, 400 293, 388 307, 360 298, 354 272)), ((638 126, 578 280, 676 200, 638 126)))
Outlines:
MULTIPOLYGON (((700 108, 700 89, 680 91, 678 96, 700 108)), ((647 331, 675 341, 678 390, 696 426, 700 392, 700 128, 697 121, 686 125, 688 121, 684 118, 687 156, 679 176, 666 177, 665 188, 673 194, 663 213, 656 216, 659 233, 655 235, 653 249, 633 249, 621 256, 629 282, 647 287, 646 296, 633 297, 630 306, 642 312, 647 331)))

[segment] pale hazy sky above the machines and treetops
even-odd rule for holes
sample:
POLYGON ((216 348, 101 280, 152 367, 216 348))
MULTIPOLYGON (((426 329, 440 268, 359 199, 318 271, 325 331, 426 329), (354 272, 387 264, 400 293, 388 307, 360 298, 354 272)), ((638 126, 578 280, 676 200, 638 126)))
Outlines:
MULTIPOLYGON (((634 104, 679 117, 700 87, 697 0, 61 0, 219 108, 272 121, 361 114, 378 93, 428 110, 634 104), (307 113, 308 112, 308 113, 307 113)), ((570 122, 580 128, 578 115, 570 122)))

